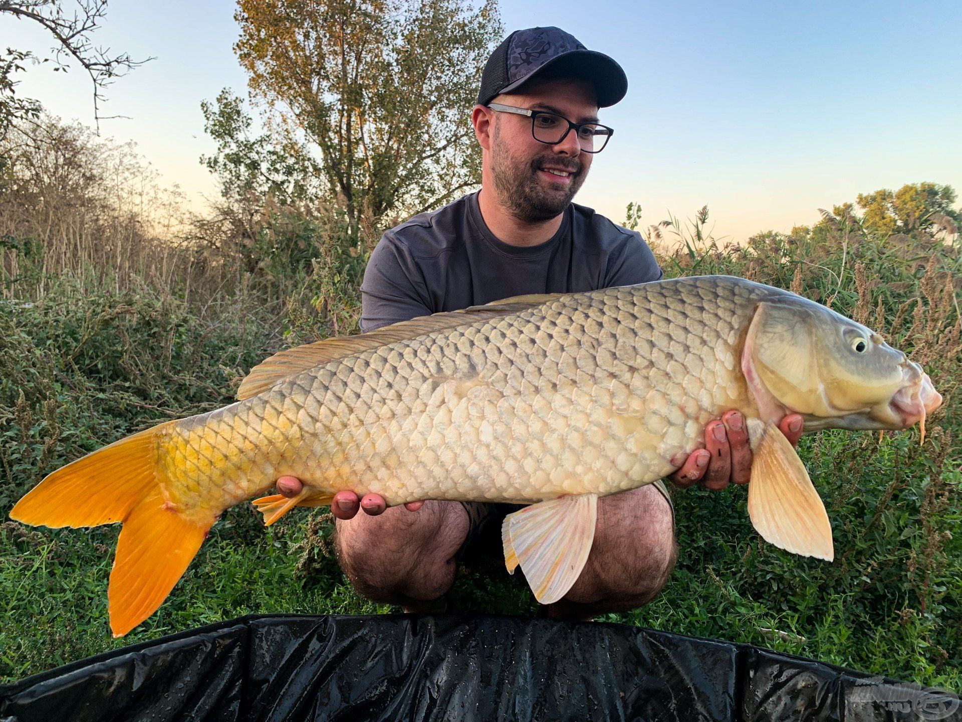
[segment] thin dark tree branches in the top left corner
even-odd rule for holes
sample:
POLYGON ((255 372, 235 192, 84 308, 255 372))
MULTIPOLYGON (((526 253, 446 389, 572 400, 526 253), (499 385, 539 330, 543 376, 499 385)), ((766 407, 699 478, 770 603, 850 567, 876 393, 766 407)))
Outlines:
POLYGON ((13 124, 34 119, 40 114, 40 103, 34 98, 17 96, 13 80, 16 72, 22 72, 26 61, 49 63, 54 69, 66 72, 70 59, 83 67, 93 85, 93 119, 99 130, 100 105, 106 98, 104 90, 114 78, 128 70, 146 63, 132 60, 127 53, 110 55, 109 49, 95 47, 90 39, 93 31, 107 13, 107 0, 77 0, 72 14, 63 12, 60 0, 0 0, 0 13, 8 13, 17 19, 32 20, 43 26, 56 41, 52 58, 38 58, 30 50, 7 48, 0 54, 0 140, 6 137, 13 124))

